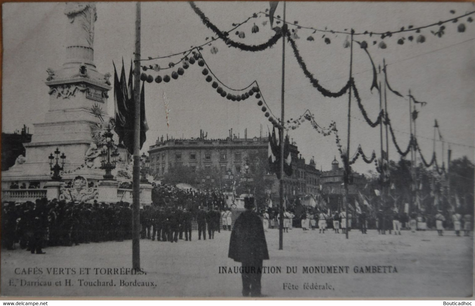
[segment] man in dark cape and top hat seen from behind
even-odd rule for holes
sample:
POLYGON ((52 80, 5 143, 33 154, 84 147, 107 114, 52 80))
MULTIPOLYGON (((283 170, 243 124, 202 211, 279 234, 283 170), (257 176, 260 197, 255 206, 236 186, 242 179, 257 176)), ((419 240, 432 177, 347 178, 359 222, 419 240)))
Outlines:
POLYGON ((253 210, 254 198, 244 199, 246 211, 234 223, 228 257, 242 263, 242 295, 261 296, 262 261, 269 259, 262 220, 253 210))

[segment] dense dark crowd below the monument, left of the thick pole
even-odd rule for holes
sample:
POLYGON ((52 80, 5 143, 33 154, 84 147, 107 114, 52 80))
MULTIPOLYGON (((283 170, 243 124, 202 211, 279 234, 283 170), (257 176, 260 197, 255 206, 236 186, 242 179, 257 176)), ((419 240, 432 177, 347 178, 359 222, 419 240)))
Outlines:
POLYGON ((19 243, 21 249, 44 254, 46 246, 132 239, 132 209, 128 202, 4 202, 1 225, 3 247, 19 243))

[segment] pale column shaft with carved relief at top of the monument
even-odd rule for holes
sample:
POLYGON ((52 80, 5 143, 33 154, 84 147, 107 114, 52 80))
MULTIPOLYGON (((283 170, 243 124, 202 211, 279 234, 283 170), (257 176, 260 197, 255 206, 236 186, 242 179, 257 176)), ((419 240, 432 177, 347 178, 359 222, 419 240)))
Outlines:
POLYGON ((97 20, 93 2, 67 2, 64 10, 69 19, 69 43, 66 46, 94 48, 94 22, 97 20))

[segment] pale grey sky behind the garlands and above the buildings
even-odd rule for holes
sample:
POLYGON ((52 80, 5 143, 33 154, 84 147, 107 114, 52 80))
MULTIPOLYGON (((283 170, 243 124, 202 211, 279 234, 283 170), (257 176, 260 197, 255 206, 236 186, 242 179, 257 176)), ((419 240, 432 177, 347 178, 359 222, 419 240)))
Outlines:
MULTIPOLYGON (((267 1, 261 2, 196 2, 211 22, 223 31, 232 28, 252 13, 268 8, 267 1)), ((33 123, 40 123, 48 109, 48 87, 45 85, 48 67, 59 69, 65 57, 66 33, 64 26, 64 2, 61 3, 5 3, 3 4, 3 80, 2 80, 2 131, 13 132, 27 124, 34 134, 33 123)), ((129 69, 134 50, 135 4, 132 2, 99 2, 95 23, 95 65, 101 73, 113 73, 113 62, 120 67, 122 58, 129 69)), ((424 26, 439 20, 475 10, 473 3, 430 3, 430 2, 287 2, 286 18, 298 21, 299 25, 318 29, 355 29, 386 32, 401 27, 424 26), (455 10, 451 14, 450 10, 455 10)), ((276 15, 283 16, 283 5, 278 5, 276 15)), ((472 15, 473 16, 473 15, 472 15)), ((368 51, 376 64, 388 64, 388 79, 393 89, 405 95, 400 98, 387 93, 388 112, 396 130, 400 147, 409 142, 409 89, 419 101, 427 105, 419 109, 417 119, 418 142, 425 157, 429 159, 433 149, 433 126, 437 119, 446 142, 451 142, 452 158, 466 155, 474 160, 474 84, 475 84, 475 22, 464 22, 466 31, 457 32, 458 23, 446 24, 445 35, 434 36, 423 29, 425 43, 409 42, 397 44, 399 38, 410 34, 395 34, 384 38, 387 48, 378 48, 380 37, 356 37, 368 41, 368 51), (377 41, 373 45, 373 40, 377 41), (455 144, 456 143, 456 144, 455 144), (462 146, 459 144, 464 144, 462 146)), ((292 27, 290 28, 292 29, 292 27)), ((251 19, 239 28, 245 38, 234 33, 230 37, 246 44, 259 44, 275 32, 270 29, 268 18, 251 19), (263 22, 267 21, 266 25, 263 22), (251 33, 254 23, 259 32, 251 33)), ((343 48, 347 38, 344 34, 327 34, 330 44, 324 42, 322 33, 298 29, 297 48, 307 68, 320 83, 332 90, 339 90, 348 80, 350 48, 343 48), (314 41, 306 38, 312 35, 314 41)), ((190 49, 206 42, 213 32, 204 26, 198 15, 187 2, 143 2, 142 3, 142 58, 166 56, 190 49)), ((417 36, 419 34, 413 33, 417 36)), ((212 71, 227 86, 243 88, 257 80, 270 110, 280 117, 282 42, 273 48, 260 52, 246 52, 228 48, 221 41, 213 42, 217 54, 211 54, 205 46, 203 57, 212 71)), ((147 62, 168 67, 170 61, 180 57, 164 58, 147 62)), ((379 113, 379 94, 370 91, 371 62, 366 53, 354 45, 352 74, 372 120, 379 113)), ((260 125, 265 136, 272 126, 257 106, 257 99, 232 102, 222 98, 204 80, 201 67, 196 64, 185 70, 185 74, 170 83, 146 83, 145 110, 150 130, 142 148, 155 144, 161 135, 175 138, 199 137, 199 130, 208 132, 209 138, 225 138, 228 130, 244 137, 258 136, 260 125), (166 122, 163 94, 169 99, 169 126, 166 122)), ((164 76, 170 70, 147 73, 164 76)), ((113 91, 110 92, 108 113, 114 114, 113 91)), ((322 96, 305 78, 289 44, 285 45, 285 120, 297 118, 309 109, 317 123, 328 126, 335 121, 342 142, 346 145, 348 124, 348 95, 339 98, 322 96)), ((288 132, 298 146, 307 163, 314 156, 317 168, 329 170, 334 155, 339 155, 334 135, 323 137, 305 122, 288 132)), ((379 155, 380 130, 365 123, 354 100, 351 105, 350 152, 352 155, 359 144, 367 155, 376 150, 379 155)), ((399 159, 390 140, 390 159, 399 159)), ((447 150, 448 144, 445 144, 447 150)), ((442 144, 437 142, 436 152, 441 160, 442 144)), ((447 153, 445 153, 447 158, 447 153)), ((372 169, 358 160, 353 169, 367 172, 372 169)))

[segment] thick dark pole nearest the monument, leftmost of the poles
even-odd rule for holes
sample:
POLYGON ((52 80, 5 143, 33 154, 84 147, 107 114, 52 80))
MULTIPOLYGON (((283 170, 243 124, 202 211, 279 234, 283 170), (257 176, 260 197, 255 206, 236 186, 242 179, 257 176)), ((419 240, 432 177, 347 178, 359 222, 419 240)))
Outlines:
POLYGON ((140 268, 140 2, 135 4, 135 56, 133 67, 134 134, 133 134, 133 202, 132 267, 140 268))

